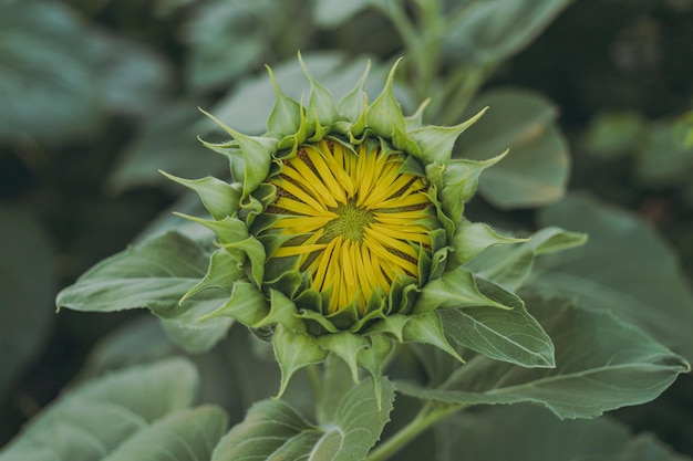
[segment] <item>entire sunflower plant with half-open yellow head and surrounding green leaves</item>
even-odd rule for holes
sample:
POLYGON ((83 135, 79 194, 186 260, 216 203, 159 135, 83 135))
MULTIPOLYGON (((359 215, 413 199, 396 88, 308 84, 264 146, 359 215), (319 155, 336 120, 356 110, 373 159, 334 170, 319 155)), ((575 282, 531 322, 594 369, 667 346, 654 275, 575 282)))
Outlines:
MULTIPOLYGON (((204 142, 230 168, 166 176, 204 208, 186 196, 174 208, 192 222, 157 221, 58 297, 79 311, 146 307, 161 323, 102 342, 83 383, 0 460, 536 460, 538 444, 546 459, 679 459, 591 420, 656 398, 690 368, 692 302, 669 251, 632 216, 563 197, 550 103, 477 94, 565 2, 353 2, 335 14, 338 3, 316 2, 316 21, 339 27, 374 4, 405 60, 359 80, 365 60, 306 53, 240 85, 210 111, 216 124, 196 123, 204 139, 220 137, 215 125, 231 137, 204 142), (258 114, 267 133, 242 134, 260 133, 258 114), (535 230, 469 210, 477 187, 497 210, 541 207, 535 230), (485 406, 498 407, 463 411, 485 406)), ((187 116, 176 123, 189 132, 187 116)), ((136 182, 124 171, 144 168, 137 155, 113 187, 136 182)), ((196 161, 176 156, 170 169, 196 161)))

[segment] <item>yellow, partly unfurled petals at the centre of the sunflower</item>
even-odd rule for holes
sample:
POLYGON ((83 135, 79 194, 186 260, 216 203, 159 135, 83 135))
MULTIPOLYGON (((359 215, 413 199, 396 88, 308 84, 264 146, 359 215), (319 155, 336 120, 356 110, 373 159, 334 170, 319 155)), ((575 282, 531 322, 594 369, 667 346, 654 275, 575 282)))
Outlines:
POLYGON ((296 258, 323 313, 355 305, 364 314, 425 273, 420 256, 431 255, 437 220, 426 178, 402 171, 405 159, 377 143, 323 139, 301 146, 269 180, 277 196, 266 212, 281 216, 270 231, 286 237, 270 258, 296 258))

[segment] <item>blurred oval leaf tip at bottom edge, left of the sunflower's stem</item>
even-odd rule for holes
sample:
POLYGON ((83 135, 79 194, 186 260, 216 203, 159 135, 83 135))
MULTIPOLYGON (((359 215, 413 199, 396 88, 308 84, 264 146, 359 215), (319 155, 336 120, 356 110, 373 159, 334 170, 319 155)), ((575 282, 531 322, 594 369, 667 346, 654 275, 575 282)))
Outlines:
POLYGON ((227 427, 218 407, 178 410, 127 439, 104 461, 208 460, 227 427))

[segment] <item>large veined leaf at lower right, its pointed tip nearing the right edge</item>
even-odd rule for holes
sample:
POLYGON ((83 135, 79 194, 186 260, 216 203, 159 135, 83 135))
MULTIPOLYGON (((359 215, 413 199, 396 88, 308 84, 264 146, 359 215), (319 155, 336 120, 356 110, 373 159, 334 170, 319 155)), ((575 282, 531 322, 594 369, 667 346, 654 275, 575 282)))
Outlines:
POLYGON ((556 347, 556 368, 521 368, 476 356, 438 388, 404 394, 462 406, 535 402, 561 418, 591 418, 656 398, 690 365, 642 331, 568 302, 527 298, 556 347))

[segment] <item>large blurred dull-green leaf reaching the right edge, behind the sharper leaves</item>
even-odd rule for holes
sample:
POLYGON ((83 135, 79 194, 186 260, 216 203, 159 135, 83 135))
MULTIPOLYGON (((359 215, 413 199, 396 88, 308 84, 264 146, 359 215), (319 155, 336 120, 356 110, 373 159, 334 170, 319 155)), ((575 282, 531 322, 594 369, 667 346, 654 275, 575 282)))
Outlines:
POLYGON ((532 287, 613 312, 693 360, 693 296, 675 254, 650 226, 582 195, 542 210, 539 220, 586 231, 590 241, 540 259, 532 287))

